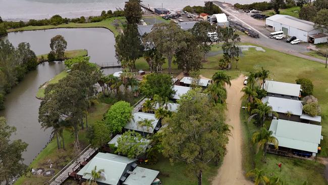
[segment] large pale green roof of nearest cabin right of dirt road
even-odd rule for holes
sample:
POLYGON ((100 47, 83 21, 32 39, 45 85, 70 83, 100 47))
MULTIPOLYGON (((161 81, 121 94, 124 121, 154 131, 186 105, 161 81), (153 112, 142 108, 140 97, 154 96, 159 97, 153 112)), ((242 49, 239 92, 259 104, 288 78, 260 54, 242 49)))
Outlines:
POLYGON ((321 126, 288 120, 272 120, 269 130, 280 147, 317 153, 321 139, 321 126))

